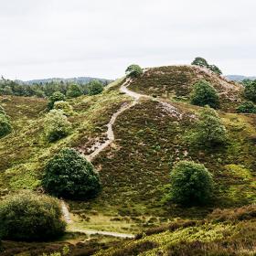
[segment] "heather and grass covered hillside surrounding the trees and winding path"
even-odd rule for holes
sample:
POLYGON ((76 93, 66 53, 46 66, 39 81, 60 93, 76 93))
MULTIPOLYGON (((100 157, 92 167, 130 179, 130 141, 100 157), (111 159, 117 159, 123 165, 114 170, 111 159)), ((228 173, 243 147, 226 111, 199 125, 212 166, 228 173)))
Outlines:
MULTIPOLYGON (((72 133, 57 143, 44 137, 45 99, 0 96, 13 125, 13 133, 0 140, 2 197, 22 189, 41 191, 44 165, 60 148, 69 146, 88 155, 94 144, 103 142, 112 114, 133 101, 120 91, 123 82, 114 81, 99 95, 69 100, 74 109, 69 117, 72 133)), ((88 201, 67 201, 74 219, 69 229, 140 235, 114 242, 113 247, 112 240, 99 239, 103 248, 110 247, 107 251, 96 252, 102 248, 96 242, 85 245, 94 246, 94 251, 70 255, 253 255, 256 114, 236 112, 244 101, 243 87, 208 69, 170 66, 145 69, 128 88, 152 97, 142 97, 117 117, 113 143, 92 161, 101 177, 101 193, 88 201), (187 142, 202 109, 190 104, 189 95, 202 79, 219 94, 219 117, 229 134, 225 146, 202 148, 187 142), (214 195, 206 206, 182 208, 167 199, 169 174, 180 160, 203 164, 212 173, 214 195)), ((9 242, 4 245, 12 247, 9 242)), ((59 247, 58 242, 53 246, 59 247)))

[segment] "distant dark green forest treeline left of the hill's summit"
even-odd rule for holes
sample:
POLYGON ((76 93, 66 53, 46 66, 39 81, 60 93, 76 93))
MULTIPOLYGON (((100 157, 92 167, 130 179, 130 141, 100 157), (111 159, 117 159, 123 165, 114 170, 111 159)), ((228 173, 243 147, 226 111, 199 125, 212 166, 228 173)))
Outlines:
MULTIPOLYGON (((35 82, 33 84, 27 84, 16 80, 7 80, 4 77, 0 80, 0 95, 16 95, 16 96, 36 96, 38 98, 44 98, 52 95, 56 91, 60 91, 64 95, 67 95, 69 87, 76 84, 82 94, 90 93, 91 80, 87 83, 76 83, 74 81, 66 80, 52 80, 47 82, 35 82)), ((104 87, 108 85, 111 80, 97 80, 104 87)))

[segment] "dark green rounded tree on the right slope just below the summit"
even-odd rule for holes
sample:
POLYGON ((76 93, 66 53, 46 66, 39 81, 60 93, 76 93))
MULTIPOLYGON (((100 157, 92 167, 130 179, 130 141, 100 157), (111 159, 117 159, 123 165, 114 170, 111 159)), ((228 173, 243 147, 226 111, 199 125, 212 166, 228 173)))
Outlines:
POLYGON ((190 95, 190 101, 197 106, 209 105, 212 108, 219 107, 219 95, 206 80, 199 80, 190 95))

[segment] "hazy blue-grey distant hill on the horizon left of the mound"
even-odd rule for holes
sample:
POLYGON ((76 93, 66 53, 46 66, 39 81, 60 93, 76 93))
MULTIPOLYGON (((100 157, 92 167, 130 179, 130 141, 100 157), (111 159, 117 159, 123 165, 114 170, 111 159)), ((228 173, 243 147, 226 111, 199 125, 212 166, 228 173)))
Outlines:
POLYGON ((99 79, 99 78, 91 78, 91 77, 78 77, 78 78, 69 78, 69 79, 62 79, 62 78, 50 78, 50 79, 41 79, 41 80, 16 80, 19 83, 26 83, 26 84, 33 84, 33 83, 47 83, 51 81, 65 81, 65 82, 75 82, 75 83, 80 83, 80 84, 85 84, 90 82, 91 80, 101 80, 102 82, 107 82, 110 83, 112 80, 107 80, 107 79, 99 79))

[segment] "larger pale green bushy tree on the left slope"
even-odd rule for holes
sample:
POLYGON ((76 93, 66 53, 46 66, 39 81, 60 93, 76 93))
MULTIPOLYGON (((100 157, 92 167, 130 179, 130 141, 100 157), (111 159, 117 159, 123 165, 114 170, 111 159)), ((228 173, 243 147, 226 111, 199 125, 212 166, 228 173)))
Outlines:
POLYGON ((69 135, 71 124, 63 111, 51 110, 45 118, 45 134, 49 142, 56 142, 69 135))

